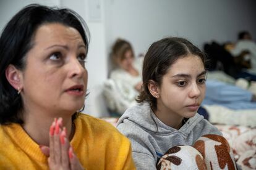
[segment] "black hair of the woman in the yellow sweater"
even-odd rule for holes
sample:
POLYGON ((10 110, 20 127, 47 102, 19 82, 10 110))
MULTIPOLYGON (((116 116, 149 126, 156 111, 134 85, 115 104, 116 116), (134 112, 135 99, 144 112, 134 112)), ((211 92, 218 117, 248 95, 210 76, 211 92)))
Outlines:
MULTIPOLYGON (((47 23, 61 23, 79 31, 88 51, 90 33, 85 21, 70 9, 30 4, 7 23, 0 38, 0 124, 23 123, 22 98, 6 79, 5 71, 12 64, 23 70, 26 54, 33 47, 36 30, 47 23)), ((75 118, 75 114, 72 116, 75 118)))

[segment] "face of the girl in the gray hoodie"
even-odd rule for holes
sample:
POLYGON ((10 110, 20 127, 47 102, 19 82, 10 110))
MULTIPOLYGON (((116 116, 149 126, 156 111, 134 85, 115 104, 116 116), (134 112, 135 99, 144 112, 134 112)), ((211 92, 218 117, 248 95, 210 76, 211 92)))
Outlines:
POLYGON ((166 115, 191 118, 205 97, 205 79, 200 57, 189 54, 178 59, 158 87, 157 110, 166 115))

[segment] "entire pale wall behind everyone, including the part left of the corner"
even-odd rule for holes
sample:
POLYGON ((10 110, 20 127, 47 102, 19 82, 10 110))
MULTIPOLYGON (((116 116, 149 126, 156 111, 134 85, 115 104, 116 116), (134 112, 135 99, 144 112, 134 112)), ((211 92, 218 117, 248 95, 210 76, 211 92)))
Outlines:
POLYGON ((213 39, 236 41, 240 30, 250 31, 256 39, 254 0, 0 0, 0 29, 32 2, 69 7, 85 18, 91 33, 85 112, 98 117, 108 115, 101 87, 108 74, 110 47, 118 37, 129 40, 135 54, 147 52, 152 42, 165 36, 182 36, 199 47, 213 39), (88 15, 95 3, 100 6, 98 20, 88 15))

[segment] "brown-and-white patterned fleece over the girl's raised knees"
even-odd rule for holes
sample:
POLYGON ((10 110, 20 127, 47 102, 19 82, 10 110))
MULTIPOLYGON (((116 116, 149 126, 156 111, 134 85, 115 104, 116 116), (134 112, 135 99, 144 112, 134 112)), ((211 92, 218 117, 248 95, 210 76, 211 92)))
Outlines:
POLYGON ((237 169, 237 166, 228 141, 222 136, 208 134, 193 146, 170 148, 158 162, 157 169, 237 169))

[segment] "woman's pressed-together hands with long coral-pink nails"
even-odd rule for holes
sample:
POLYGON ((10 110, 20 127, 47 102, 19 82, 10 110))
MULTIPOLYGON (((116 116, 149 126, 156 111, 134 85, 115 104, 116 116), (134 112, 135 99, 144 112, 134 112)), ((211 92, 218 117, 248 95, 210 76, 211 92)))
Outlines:
POLYGON ((55 119, 49 131, 49 148, 40 147, 41 151, 49 156, 49 169, 84 169, 66 135, 66 127, 62 128, 62 118, 55 119))

